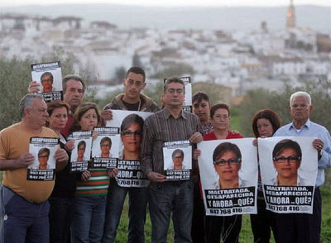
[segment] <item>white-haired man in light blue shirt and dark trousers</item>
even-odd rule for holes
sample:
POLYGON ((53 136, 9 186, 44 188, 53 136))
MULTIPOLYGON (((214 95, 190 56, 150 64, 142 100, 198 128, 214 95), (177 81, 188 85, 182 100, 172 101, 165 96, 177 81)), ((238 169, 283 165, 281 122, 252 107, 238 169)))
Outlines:
MULTIPOLYGON (((329 131, 312 121, 311 97, 298 91, 291 95, 289 111, 293 121, 279 128, 273 136, 317 137, 312 143, 318 153, 318 170, 313 201, 313 213, 276 213, 275 238, 277 242, 319 242, 321 232, 322 198, 319 187, 323 185, 324 169, 331 166, 331 137, 329 131)), ((287 162, 287 161, 286 161, 287 162)))

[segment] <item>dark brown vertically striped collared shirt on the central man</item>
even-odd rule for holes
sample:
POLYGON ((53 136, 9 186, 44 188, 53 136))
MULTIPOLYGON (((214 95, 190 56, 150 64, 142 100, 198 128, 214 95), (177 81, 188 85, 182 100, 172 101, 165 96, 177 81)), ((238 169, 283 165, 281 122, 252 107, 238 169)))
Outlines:
POLYGON ((149 117, 144 122, 144 134, 141 146, 141 167, 147 175, 154 171, 164 174, 164 142, 188 140, 198 132, 199 118, 182 111, 175 119, 166 109, 149 117))

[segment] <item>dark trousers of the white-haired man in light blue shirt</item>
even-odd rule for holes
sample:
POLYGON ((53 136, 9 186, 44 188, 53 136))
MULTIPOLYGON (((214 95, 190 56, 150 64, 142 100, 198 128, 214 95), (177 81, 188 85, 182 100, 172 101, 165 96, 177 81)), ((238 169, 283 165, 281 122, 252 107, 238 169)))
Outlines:
POLYGON ((315 188, 313 214, 275 213, 276 239, 281 243, 318 243, 321 234, 322 198, 315 188))

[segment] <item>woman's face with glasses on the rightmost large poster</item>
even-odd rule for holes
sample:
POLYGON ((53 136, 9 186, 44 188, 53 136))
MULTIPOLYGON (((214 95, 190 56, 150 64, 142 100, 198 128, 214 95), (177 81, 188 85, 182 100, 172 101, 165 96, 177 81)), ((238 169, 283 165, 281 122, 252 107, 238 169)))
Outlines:
POLYGON ((290 179, 298 176, 298 168, 300 166, 297 152, 292 148, 286 148, 273 161, 278 174, 278 180, 281 178, 290 179))

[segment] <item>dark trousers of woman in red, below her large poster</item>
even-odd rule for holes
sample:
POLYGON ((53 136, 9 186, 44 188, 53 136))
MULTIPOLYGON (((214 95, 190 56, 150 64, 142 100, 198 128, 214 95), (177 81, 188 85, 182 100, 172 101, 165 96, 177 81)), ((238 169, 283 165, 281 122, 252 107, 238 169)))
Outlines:
POLYGON ((235 243, 239 240, 241 215, 206 216, 207 243, 235 243))

